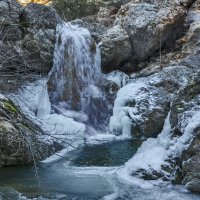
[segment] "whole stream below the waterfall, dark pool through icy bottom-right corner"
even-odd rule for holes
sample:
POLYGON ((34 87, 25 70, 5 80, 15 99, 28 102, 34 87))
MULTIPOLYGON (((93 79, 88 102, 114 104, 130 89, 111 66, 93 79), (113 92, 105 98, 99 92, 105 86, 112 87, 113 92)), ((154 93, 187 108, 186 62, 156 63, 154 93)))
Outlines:
MULTIPOLYGON (((122 164, 133 156, 141 143, 138 140, 125 140, 81 147, 58 162, 40 164, 39 181, 32 166, 2 168, 0 186, 13 188, 26 198, 41 200, 200 199, 182 186, 161 183, 149 187, 143 182, 139 186, 119 178, 118 171, 122 164)), ((1 191, 0 188, 0 194, 1 191)), ((15 200, 11 194, 7 191, 4 199, 15 200)))

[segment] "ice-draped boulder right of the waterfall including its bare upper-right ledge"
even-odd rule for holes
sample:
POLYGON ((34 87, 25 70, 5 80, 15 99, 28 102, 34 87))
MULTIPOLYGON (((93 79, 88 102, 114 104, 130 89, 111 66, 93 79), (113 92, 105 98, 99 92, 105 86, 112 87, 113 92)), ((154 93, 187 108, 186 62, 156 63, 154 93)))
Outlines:
POLYGON ((171 94, 187 85, 192 74, 185 66, 169 66, 147 78, 130 79, 130 83, 118 91, 110 132, 136 137, 157 136, 169 112, 171 94))

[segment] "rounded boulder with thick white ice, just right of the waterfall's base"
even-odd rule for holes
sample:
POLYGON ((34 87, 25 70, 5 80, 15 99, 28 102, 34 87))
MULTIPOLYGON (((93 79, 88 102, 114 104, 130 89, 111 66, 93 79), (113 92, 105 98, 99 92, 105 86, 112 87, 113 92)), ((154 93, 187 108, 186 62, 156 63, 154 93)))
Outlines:
POLYGON ((136 137, 156 135, 162 130, 168 105, 166 91, 150 86, 145 78, 137 79, 119 90, 110 132, 136 137))

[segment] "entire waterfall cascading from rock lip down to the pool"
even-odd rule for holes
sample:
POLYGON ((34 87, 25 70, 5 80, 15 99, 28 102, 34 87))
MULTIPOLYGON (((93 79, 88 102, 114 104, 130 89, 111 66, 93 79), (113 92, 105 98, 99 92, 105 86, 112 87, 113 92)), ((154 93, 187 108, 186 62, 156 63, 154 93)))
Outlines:
POLYGON ((57 26, 54 66, 48 81, 51 103, 54 108, 62 105, 71 115, 87 115, 87 123, 96 129, 104 129, 108 119, 100 64, 99 47, 87 29, 65 22, 57 26))

